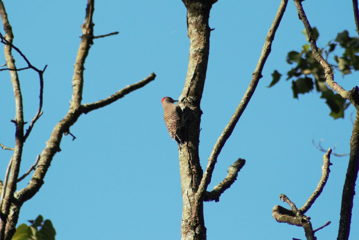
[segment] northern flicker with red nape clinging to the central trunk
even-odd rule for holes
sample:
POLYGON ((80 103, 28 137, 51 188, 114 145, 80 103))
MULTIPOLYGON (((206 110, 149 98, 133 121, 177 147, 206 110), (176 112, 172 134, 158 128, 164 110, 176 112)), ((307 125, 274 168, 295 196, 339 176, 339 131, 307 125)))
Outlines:
POLYGON ((164 123, 167 126, 168 133, 172 140, 176 139, 176 142, 181 149, 181 145, 183 144, 181 128, 184 124, 182 109, 173 104, 174 102, 178 102, 178 100, 173 100, 170 97, 162 98, 161 102, 163 106, 164 123))

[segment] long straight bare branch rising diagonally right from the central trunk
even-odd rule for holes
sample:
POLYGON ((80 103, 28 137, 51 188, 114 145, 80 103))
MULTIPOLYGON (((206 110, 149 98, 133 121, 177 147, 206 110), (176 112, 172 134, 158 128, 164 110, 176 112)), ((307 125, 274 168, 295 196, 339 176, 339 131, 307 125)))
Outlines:
POLYGON ((211 177, 212 177, 215 163, 217 161, 217 157, 218 157, 220 151, 222 150, 225 142, 232 134, 234 127, 236 126, 243 111, 246 109, 248 102, 251 100, 251 97, 253 96, 253 93, 257 87, 259 79, 262 77, 262 69, 267 60, 267 57, 270 54, 271 45, 274 40, 274 35, 276 33, 276 30, 278 29, 280 20, 283 17, 287 3, 288 3, 288 0, 281 1, 281 4, 280 4, 278 12, 274 18, 272 26, 269 29, 269 32, 266 36, 265 44, 262 49, 262 54, 257 63, 257 67, 253 73, 253 78, 251 80, 251 83, 248 86, 246 93, 244 93, 244 96, 243 96, 241 102, 239 103, 236 111, 234 112, 232 118, 230 119, 228 125, 225 127, 225 129, 223 130, 222 134, 220 135, 220 137, 218 138, 217 142, 215 143, 215 145, 213 147, 213 151, 211 152, 211 155, 208 159, 208 165, 207 165, 206 171, 202 177, 199 190, 197 191, 197 194, 199 196, 203 196, 206 193, 207 186, 211 181, 211 177))

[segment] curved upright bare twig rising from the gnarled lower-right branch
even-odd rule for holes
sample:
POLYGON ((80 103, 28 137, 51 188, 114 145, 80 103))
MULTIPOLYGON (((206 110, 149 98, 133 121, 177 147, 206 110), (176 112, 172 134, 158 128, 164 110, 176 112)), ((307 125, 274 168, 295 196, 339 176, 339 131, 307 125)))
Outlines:
POLYGON ((317 188, 314 190, 312 195, 308 198, 307 202, 304 204, 303 207, 299 208, 302 213, 306 213, 309 208, 313 205, 314 201, 319 197, 319 195, 322 193, 323 188, 325 184, 327 183, 328 177, 329 177, 329 166, 332 165, 330 163, 330 153, 332 152, 332 149, 328 149, 328 151, 323 156, 323 166, 322 166, 322 176, 319 180, 319 183, 317 185, 317 188))

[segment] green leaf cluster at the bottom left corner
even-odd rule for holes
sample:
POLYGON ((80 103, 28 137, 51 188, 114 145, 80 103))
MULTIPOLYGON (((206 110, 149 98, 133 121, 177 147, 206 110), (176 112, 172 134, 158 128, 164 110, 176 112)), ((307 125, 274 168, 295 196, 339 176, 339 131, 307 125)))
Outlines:
POLYGON ((43 220, 39 215, 35 220, 29 220, 31 225, 25 223, 17 227, 11 240, 55 240, 56 231, 50 220, 43 220))

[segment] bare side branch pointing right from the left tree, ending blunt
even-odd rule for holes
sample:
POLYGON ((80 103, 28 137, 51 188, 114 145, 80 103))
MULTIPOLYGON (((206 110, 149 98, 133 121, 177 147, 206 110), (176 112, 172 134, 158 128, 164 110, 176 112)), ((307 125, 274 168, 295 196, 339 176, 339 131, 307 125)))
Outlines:
POLYGON ((156 74, 151 73, 147 78, 141 80, 140 82, 126 86, 125 88, 122 88, 121 90, 119 90, 115 94, 112 94, 111 96, 109 96, 106 99, 99 100, 99 101, 93 102, 93 103, 84 104, 81 106, 81 112, 83 112, 84 114, 87 114, 88 112, 90 112, 92 110, 107 106, 107 105, 117 101, 118 99, 124 97, 125 95, 129 94, 130 92, 133 92, 136 89, 139 89, 139 88, 145 86, 149 82, 153 81, 155 79, 155 77, 156 77, 156 74))

